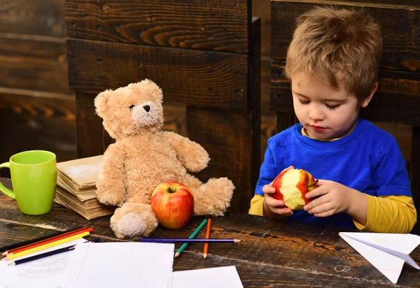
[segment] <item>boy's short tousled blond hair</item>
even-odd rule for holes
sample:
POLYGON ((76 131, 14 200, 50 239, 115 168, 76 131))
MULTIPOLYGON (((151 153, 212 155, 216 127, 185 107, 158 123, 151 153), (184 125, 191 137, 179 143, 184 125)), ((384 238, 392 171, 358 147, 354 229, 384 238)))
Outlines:
POLYGON ((306 73, 363 101, 377 82, 382 40, 363 11, 317 7, 301 15, 286 56, 286 77, 306 73))

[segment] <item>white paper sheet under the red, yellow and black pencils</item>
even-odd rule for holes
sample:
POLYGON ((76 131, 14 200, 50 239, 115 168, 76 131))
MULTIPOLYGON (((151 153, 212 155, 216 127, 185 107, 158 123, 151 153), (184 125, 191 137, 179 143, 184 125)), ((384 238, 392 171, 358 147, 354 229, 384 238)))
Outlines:
MULTIPOLYGON (((83 243, 83 238, 63 243, 55 247, 38 251, 23 257, 13 259, 25 259, 36 254, 57 250, 62 247, 83 243)), ((58 288, 62 287, 63 277, 70 263, 74 251, 64 252, 57 255, 34 260, 16 266, 8 266, 11 261, 0 261, 0 288, 58 288)))

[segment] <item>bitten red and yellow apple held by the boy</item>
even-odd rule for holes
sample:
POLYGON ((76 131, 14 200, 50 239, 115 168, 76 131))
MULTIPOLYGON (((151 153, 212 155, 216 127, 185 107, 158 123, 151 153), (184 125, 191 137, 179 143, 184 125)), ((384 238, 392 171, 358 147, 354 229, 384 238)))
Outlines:
POLYGON ((288 168, 274 179, 272 186, 276 188, 273 197, 283 200, 284 206, 291 210, 303 209, 311 201, 304 196, 318 185, 311 173, 302 169, 288 168))

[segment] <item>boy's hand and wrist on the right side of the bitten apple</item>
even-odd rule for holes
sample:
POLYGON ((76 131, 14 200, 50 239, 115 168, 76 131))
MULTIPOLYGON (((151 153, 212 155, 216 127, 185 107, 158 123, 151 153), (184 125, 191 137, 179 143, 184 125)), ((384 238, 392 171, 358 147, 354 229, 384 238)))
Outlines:
POLYGON ((367 210, 367 199, 363 193, 329 180, 318 180, 318 186, 306 194, 307 199, 319 196, 303 207, 309 214, 327 217, 344 212, 353 218, 363 219, 367 210))

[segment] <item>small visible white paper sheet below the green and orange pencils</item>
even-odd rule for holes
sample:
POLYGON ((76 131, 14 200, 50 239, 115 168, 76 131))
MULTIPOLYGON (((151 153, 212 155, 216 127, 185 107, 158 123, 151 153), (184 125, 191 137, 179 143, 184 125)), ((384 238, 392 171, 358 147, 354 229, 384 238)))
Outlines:
POLYGON ((171 288, 242 288, 235 266, 176 271, 171 288))

